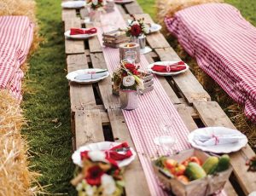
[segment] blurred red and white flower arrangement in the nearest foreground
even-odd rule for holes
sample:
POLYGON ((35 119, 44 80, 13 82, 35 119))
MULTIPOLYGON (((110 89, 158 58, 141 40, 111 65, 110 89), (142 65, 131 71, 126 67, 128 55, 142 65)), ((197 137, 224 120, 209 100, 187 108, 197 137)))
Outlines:
POLYGON ((119 196, 124 192, 123 171, 102 151, 81 153, 83 169, 71 182, 79 196, 119 196))

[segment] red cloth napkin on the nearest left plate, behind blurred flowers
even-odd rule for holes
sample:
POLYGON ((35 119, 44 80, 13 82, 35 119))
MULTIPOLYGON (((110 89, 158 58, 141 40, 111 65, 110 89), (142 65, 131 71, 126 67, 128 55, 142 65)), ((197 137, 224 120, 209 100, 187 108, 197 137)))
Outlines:
POLYGON ((122 147, 129 147, 129 145, 127 144, 127 142, 123 142, 123 143, 119 144, 118 146, 110 148, 108 151, 106 151, 107 158, 110 158, 110 159, 113 159, 116 161, 130 158, 132 156, 130 149, 127 150, 125 153, 119 153, 119 152, 115 151, 116 149, 119 149, 122 147))

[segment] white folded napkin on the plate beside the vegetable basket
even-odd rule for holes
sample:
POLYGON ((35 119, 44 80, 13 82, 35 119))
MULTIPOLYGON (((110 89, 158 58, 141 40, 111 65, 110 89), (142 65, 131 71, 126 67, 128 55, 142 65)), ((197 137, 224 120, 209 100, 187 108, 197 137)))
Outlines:
POLYGON ((243 139, 244 136, 241 134, 225 134, 225 135, 214 135, 207 133, 195 133, 193 140, 197 145, 200 146, 216 146, 222 144, 236 143, 243 139))

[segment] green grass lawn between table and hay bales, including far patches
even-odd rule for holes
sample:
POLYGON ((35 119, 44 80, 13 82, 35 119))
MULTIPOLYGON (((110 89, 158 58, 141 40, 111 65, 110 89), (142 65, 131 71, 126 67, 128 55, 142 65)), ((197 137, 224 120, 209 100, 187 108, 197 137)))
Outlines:
MULTIPOLYGON (((36 0, 40 34, 44 37, 40 49, 30 60, 26 76, 23 108, 28 125, 22 130, 30 141, 31 165, 42 176, 38 179, 49 193, 74 195, 69 184, 73 177, 72 133, 64 37, 61 23, 61 0, 36 0)), ((146 13, 154 17, 154 0, 138 1, 146 13)), ((256 25, 256 1, 227 0, 256 25)))

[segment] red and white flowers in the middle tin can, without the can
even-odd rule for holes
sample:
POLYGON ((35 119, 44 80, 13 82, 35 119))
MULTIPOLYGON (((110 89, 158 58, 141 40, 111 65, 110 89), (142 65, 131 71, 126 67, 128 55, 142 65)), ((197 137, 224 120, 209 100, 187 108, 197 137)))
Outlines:
POLYGON ((119 68, 113 72, 113 89, 137 90, 143 89, 143 76, 135 66, 128 61, 122 61, 119 68))

